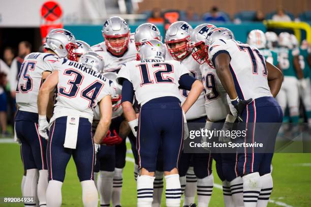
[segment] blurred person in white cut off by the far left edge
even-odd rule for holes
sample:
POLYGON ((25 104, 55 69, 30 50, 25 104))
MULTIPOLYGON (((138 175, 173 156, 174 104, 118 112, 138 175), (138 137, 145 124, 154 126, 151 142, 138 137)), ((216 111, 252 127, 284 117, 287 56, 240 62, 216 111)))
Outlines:
POLYGON ((3 60, 0 59, 0 126, 2 136, 9 135, 7 131, 7 95, 4 90, 8 83, 9 73, 9 67, 3 60))

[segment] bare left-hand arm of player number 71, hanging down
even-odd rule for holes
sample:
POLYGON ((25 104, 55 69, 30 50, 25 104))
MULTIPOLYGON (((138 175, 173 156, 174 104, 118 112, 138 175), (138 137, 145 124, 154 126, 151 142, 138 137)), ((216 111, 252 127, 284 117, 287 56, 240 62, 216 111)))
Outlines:
POLYGON ((230 56, 226 53, 217 55, 215 58, 215 70, 230 99, 236 99, 237 93, 229 69, 230 61, 230 56))

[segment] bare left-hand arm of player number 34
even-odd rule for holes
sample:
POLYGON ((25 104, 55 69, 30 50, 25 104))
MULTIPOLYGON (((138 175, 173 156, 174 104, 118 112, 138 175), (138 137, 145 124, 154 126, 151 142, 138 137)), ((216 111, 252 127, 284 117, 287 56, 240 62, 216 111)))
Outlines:
POLYGON ((49 102, 50 93, 53 92, 54 88, 58 83, 58 71, 54 71, 50 74, 42 86, 40 87, 38 95, 38 111, 39 115, 46 115, 47 106, 49 102))

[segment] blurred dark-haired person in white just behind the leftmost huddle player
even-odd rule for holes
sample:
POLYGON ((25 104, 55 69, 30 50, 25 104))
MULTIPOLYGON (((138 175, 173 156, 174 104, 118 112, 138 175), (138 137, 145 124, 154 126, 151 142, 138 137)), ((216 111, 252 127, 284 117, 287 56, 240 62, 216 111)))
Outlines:
POLYGON ((11 86, 11 95, 15 99, 15 90, 17 85, 17 76, 20 71, 21 64, 24 61, 24 57, 32 52, 32 44, 28 41, 22 41, 18 44, 18 56, 14 58, 11 71, 10 71, 10 86, 11 86))

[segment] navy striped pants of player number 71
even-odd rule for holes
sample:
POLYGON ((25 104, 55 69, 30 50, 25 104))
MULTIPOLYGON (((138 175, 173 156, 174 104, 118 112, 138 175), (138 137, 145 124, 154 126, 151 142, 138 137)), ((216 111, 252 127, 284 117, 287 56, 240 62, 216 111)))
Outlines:
MULTIPOLYGON (((255 99, 246 106, 242 113, 245 127, 247 129, 244 141, 246 143, 269 144, 270 147, 275 144, 276 135, 283 121, 283 112, 281 107, 273 97, 261 97, 255 99), (273 123, 256 124, 256 123, 273 123), (275 128, 276 127, 276 128, 275 128), (266 142, 266 140, 268 142, 266 142)), ((266 145, 267 147, 267 145, 266 145)), ((256 153, 256 149, 248 147, 244 153, 238 154, 238 172, 244 175, 252 172, 259 172, 260 175, 270 172, 270 164, 273 153, 256 153)))

